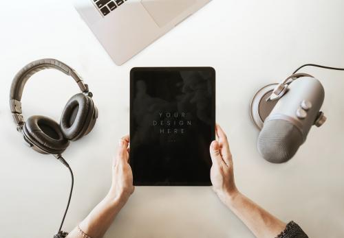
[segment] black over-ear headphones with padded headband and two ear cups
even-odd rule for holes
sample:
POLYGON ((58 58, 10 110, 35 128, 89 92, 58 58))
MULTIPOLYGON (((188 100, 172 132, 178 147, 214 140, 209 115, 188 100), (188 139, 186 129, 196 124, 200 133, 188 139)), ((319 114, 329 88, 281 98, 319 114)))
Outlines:
POLYGON ((98 118, 98 109, 94 105, 92 93, 78 73, 61 61, 54 59, 36 60, 27 64, 14 77, 10 89, 10 109, 17 123, 17 130, 23 133, 24 141, 41 154, 61 155, 69 141, 77 141, 91 132, 98 118), (35 73, 43 69, 58 69, 72 76, 81 93, 77 93, 67 102, 58 124, 44 116, 32 116, 24 120, 21 112, 21 96, 26 82, 35 73))

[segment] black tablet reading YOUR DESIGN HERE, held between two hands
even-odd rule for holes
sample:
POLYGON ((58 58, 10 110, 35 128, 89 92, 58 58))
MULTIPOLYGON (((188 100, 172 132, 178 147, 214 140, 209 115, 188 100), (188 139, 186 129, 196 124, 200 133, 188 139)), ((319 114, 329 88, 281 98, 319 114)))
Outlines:
POLYGON ((133 184, 210 186, 215 70, 133 68, 130 152, 133 184))

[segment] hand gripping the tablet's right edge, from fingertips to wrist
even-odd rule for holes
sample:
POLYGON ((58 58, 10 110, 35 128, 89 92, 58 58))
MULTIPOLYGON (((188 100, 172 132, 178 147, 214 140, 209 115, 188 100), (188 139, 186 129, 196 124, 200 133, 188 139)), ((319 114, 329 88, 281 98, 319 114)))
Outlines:
POLYGON ((233 173, 233 159, 230 153, 229 143, 222 128, 216 126, 217 141, 213 141, 210 147, 211 160, 211 183, 213 190, 222 202, 228 202, 237 195, 233 173))

